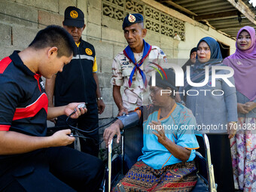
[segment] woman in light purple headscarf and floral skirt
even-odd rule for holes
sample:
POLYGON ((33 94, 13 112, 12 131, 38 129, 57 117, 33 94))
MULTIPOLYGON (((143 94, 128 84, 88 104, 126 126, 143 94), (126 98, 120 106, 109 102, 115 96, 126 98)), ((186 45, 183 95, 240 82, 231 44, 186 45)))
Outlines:
POLYGON ((234 69, 238 132, 231 139, 231 151, 235 186, 244 191, 256 189, 256 136, 251 131, 256 124, 255 44, 254 28, 242 27, 236 36, 236 52, 224 59, 234 69))

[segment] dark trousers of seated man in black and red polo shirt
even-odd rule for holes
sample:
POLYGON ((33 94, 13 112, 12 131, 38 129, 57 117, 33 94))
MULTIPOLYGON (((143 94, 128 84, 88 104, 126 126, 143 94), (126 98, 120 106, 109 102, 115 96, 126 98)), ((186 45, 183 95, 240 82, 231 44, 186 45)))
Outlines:
POLYGON ((105 172, 102 160, 67 147, 33 151, 0 163, 0 169, 11 167, 0 177, 0 191, 10 192, 97 191, 105 172))

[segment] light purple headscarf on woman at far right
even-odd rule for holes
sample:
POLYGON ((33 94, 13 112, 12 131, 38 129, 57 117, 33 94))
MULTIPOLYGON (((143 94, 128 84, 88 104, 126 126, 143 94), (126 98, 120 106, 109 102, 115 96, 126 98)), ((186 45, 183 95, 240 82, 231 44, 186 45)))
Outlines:
POLYGON ((255 30, 251 26, 242 27, 236 35, 236 52, 224 59, 223 63, 234 69, 236 90, 248 97, 256 99, 256 42, 255 30), (251 45, 247 50, 239 50, 237 39, 242 31, 251 36, 251 45))

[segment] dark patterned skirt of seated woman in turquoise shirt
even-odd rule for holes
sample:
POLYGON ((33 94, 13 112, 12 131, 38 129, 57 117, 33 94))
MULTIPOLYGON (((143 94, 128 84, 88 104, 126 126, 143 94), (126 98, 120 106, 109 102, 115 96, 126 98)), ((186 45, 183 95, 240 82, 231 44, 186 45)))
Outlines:
POLYGON ((142 161, 133 165, 113 191, 190 191, 197 184, 194 163, 176 163, 163 169, 152 169, 142 161))

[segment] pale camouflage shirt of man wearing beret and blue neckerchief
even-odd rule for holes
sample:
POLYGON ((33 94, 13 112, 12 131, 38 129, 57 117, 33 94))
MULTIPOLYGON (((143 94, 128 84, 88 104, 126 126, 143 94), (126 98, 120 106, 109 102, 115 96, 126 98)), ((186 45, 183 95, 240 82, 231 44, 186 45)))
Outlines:
MULTIPOLYGON (((136 62, 139 63, 140 59, 142 59, 142 53, 141 55, 135 53, 136 62)), ((159 47, 152 46, 151 52, 143 62, 142 66, 140 66, 140 69, 142 69, 147 77, 147 81, 150 80, 151 72, 155 71, 151 66, 158 69, 157 66, 150 62, 155 62, 158 65, 163 66, 163 62, 167 62, 166 54, 163 53, 163 50, 159 47)), ((114 57, 111 84, 123 86, 123 106, 126 107, 128 111, 133 111, 138 106, 151 103, 149 86, 145 87, 142 75, 139 73, 138 69, 136 69, 136 72, 133 75, 133 84, 129 87, 130 74, 134 67, 135 64, 123 54, 123 51, 114 57)))

